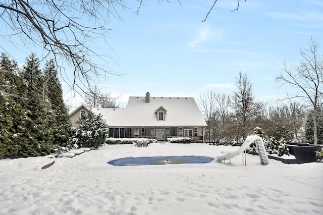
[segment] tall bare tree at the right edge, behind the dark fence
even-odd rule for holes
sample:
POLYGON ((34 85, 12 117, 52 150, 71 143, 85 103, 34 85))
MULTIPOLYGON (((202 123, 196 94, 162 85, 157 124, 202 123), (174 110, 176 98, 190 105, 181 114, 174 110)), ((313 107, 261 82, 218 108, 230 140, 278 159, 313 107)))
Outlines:
POLYGON ((297 89, 287 98, 303 100, 313 110, 314 144, 317 144, 317 113, 323 97, 323 61, 318 53, 317 40, 310 39, 308 49, 300 50, 303 61, 298 66, 288 66, 284 62, 284 73, 276 77, 278 83, 288 84, 297 89))

